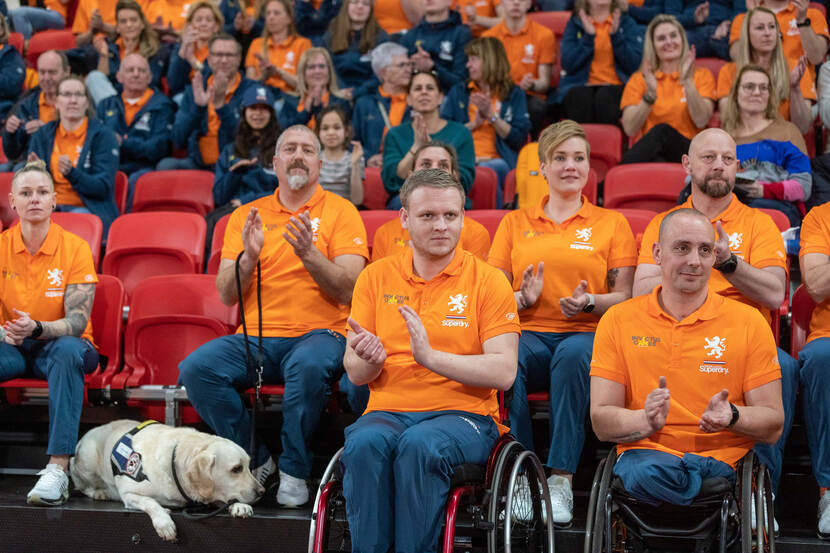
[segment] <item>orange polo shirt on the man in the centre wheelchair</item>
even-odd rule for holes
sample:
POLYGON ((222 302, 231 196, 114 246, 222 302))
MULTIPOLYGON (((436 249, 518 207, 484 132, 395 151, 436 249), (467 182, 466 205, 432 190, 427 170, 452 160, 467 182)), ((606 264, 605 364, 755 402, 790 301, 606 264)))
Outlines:
MULTIPOLYGON (((521 334, 516 300, 495 268, 456 248, 449 265, 425 281, 412 270, 412 249, 369 265, 357 278, 351 317, 386 348, 380 375, 369 383, 371 411, 460 410, 499 422, 496 390, 467 386, 419 365, 412 357, 406 322, 398 311, 418 313, 430 345, 457 355, 480 355, 482 344, 521 334)), ((499 425, 502 433, 507 429, 499 425)))

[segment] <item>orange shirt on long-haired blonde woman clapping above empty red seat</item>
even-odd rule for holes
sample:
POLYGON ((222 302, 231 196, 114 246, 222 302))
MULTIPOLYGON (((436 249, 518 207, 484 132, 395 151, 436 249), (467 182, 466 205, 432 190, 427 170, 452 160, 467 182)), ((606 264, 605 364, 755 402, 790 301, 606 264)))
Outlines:
MULTIPOLYGON (((640 134, 646 134, 659 123, 668 123, 674 130, 691 140, 701 128, 695 125, 692 116, 689 115, 689 110, 686 107, 686 91, 683 90, 683 85, 680 84, 679 80, 680 72, 663 73, 662 71, 655 71, 654 76, 657 77, 657 101, 651 106, 651 111, 648 113, 640 134)), ((715 78, 711 71, 701 67, 695 68, 693 81, 702 98, 708 98, 712 101, 716 99, 715 78)), ((623 89, 620 110, 639 104, 645 93, 646 81, 643 74, 637 71, 631 75, 625 89, 623 89)))

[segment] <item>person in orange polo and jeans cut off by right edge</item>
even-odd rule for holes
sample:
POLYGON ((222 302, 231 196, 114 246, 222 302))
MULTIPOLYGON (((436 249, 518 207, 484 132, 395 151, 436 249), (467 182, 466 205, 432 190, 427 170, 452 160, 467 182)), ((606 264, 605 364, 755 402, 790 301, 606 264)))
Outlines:
POLYGON ((830 451, 825 429, 830 419, 830 204, 815 207, 801 225, 799 252, 801 278, 810 298, 816 302, 810 320, 807 344, 798 354, 801 363, 801 397, 813 474, 819 485, 818 532, 830 539, 830 451))

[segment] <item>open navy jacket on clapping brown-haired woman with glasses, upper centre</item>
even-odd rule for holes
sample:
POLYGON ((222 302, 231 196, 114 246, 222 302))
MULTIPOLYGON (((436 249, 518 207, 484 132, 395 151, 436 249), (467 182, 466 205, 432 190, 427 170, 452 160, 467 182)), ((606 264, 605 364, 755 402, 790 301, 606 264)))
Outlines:
MULTIPOLYGON (((447 94, 447 99, 441 108, 441 117, 459 123, 469 123, 469 107, 470 85, 458 83, 447 94)), ((510 123, 510 132, 504 138, 496 134, 496 151, 511 168, 515 168, 519 150, 527 142, 527 133, 530 132, 527 99, 521 88, 513 86, 507 100, 501 102, 499 117, 510 123)))

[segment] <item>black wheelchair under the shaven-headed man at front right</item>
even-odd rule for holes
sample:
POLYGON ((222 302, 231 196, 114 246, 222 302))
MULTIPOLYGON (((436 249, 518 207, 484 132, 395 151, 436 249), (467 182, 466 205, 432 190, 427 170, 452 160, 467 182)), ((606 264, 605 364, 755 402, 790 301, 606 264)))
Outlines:
POLYGON ((769 474, 754 452, 738 462, 734 486, 725 478, 705 479, 686 506, 653 507, 638 501, 613 475, 616 461, 613 448, 594 474, 584 553, 775 553, 775 536, 764 531, 774 525, 769 474), (752 502, 757 530, 752 530, 752 502))

